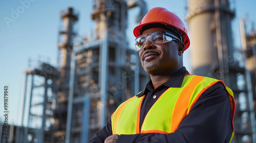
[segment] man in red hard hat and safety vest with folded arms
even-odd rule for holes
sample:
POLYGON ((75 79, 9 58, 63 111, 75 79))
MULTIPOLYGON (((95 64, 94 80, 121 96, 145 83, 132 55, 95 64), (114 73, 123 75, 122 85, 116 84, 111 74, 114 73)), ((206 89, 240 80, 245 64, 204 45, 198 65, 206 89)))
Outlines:
POLYGON ((181 19, 153 8, 134 28, 140 62, 151 80, 123 102, 90 142, 230 142, 234 100, 223 81, 190 75, 181 19))

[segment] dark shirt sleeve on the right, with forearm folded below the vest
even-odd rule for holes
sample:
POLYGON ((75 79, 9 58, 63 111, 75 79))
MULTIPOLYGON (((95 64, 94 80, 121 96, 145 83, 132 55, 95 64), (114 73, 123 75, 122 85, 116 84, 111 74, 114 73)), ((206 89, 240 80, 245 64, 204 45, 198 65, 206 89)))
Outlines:
POLYGON ((222 83, 207 89, 174 133, 120 135, 119 142, 229 142, 232 135, 230 100, 222 83))

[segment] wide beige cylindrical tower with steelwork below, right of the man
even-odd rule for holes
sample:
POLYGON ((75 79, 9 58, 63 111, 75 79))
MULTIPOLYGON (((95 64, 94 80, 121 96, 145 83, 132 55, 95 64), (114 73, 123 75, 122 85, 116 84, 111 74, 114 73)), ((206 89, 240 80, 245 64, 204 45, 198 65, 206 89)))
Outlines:
MULTIPOLYGON (((234 12, 228 0, 188 1, 187 21, 190 32, 193 74, 225 81, 236 100, 232 142, 255 142, 252 76, 236 59, 232 45, 231 20, 234 12)), ((241 53, 241 52, 240 52, 241 53)), ((255 70, 254 70, 255 73, 255 70)), ((255 78, 255 76, 253 77, 255 78)))

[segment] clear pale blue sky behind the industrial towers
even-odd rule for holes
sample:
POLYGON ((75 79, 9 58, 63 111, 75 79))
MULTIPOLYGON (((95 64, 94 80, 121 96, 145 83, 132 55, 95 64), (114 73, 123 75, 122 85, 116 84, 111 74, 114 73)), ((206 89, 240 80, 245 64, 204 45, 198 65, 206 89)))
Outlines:
MULTIPOLYGON (((185 21, 187 13, 185 0, 145 1, 148 9, 165 7, 181 17, 187 25, 185 21)), ((4 89, 4 85, 9 86, 9 123, 18 123, 18 108, 20 106, 24 71, 28 69, 28 59, 35 60, 40 55, 42 58, 49 58, 49 63, 56 66, 60 12, 68 7, 73 7, 79 13, 77 33, 83 37, 95 27, 95 22, 91 20, 92 2, 93 0, 0 1, 0 89, 4 89), (17 13, 14 14, 14 11, 17 13)), ((232 8, 236 10, 236 17, 232 21, 234 46, 240 47, 238 20, 247 15, 247 31, 250 30, 250 22, 256 22, 256 17, 254 16, 256 1, 240 0, 230 2, 232 8)), ((129 21, 126 35, 131 41, 131 48, 134 48, 133 28, 138 24, 135 22, 138 12, 139 9, 134 8, 129 10, 128 13, 129 21)), ((189 57, 189 50, 186 51, 184 56, 189 57)), ((185 60, 184 65, 189 70, 189 62, 187 61, 189 60, 185 60)), ((3 93, 0 93, 0 111, 4 110, 3 103, 3 93)), ((3 118, 0 116, 1 121, 3 121, 3 118)))

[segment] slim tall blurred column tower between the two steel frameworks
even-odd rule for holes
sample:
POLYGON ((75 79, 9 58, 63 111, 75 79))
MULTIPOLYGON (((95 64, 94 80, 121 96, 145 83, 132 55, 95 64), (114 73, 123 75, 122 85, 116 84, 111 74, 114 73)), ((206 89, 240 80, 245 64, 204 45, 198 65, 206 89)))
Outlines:
POLYGON ((70 82, 70 63, 71 53, 73 50, 73 37, 76 35, 74 32, 74 25, 78 20, 73 8, 68 8, 66 12, 60 14, 63 28, 59 32, 58 43, 58 71, 59 76, 56 82, 57 95, 55 98, 53 115, 54 125, 51 130, 56 139, 65 140, 66 123, 67 123, 67 108, 69 96, 69 82, 70 82))

